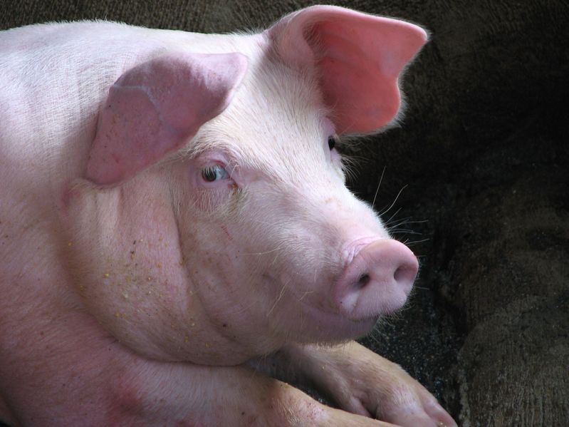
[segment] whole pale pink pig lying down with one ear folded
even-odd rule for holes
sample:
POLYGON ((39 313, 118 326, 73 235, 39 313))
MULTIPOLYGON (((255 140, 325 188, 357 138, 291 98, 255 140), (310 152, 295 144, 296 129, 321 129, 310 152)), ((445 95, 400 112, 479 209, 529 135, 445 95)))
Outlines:
POLYGON ((352 341, 418 266, 335 147, 395 120, 426 41, 335 6, 256 33, 2 31, 0 419, 456 426, 352 341))

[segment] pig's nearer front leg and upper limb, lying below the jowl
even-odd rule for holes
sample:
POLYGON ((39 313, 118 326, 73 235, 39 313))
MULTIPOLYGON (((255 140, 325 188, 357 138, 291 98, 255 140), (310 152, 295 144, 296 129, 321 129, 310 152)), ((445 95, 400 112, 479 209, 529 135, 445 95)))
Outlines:
POLYGON ((323 406, 249 367, 144 359, 100 333, 87 314, 34 313, 46 319, 20 327, 0 366, 12 412, 0 416, 14 427, 391 426, 323 406))

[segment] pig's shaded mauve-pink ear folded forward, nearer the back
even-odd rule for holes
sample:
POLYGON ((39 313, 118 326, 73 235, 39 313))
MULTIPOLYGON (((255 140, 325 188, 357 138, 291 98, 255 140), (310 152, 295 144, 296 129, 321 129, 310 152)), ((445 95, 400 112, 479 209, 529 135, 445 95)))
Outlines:
POLYGON ((229 105, 246 68, 240 53, 169 53, 126 71, 100 110, 87 178, 113 184, 181 148, 229 105))

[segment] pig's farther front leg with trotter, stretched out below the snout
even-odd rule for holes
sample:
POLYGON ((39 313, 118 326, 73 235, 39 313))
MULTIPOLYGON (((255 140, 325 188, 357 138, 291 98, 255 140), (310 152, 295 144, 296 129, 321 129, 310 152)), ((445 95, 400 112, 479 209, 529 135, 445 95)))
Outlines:
POLYGON ((456 427, 437 399, 400 366, 355 341, 289 346, 256 367, 286 381, 314 386, 351 413, 406 427, 456 427))

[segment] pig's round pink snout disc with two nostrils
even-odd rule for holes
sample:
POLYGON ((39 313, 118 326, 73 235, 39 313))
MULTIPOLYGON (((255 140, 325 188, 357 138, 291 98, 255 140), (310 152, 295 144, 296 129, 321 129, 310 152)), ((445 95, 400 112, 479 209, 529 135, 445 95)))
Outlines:
POLYGON ((397 240, 368 243, 355 254, 335 283, 335 305, 352 320, 394 312, 411 292, 418 269, 417 257, 397 240))

